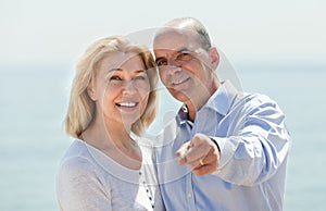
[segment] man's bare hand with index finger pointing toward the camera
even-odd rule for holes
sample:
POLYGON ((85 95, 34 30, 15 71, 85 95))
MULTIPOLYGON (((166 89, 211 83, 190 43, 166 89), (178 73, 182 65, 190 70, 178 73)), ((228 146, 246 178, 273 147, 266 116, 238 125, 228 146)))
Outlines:
POLYGON ((210 137, 196 134, 177 150, 176 157, 180 165, 188 165, 193 174, 201 176, 217 170, 220 151, 210 137))

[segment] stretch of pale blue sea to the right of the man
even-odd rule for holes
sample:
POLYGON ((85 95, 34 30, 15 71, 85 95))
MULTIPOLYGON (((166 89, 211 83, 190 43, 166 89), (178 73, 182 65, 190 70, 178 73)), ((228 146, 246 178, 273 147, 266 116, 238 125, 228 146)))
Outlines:
POLYGON ((325 210, 326 66, 275 65, 263 70, 240 75, 243 87, 268 94, 286 113, 292 148, 285 210, 325 210))

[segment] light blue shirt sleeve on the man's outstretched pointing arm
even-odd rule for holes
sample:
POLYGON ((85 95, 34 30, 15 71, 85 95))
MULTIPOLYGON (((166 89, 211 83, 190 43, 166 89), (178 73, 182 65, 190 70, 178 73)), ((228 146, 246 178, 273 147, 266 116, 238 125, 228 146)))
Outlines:
POLYGON ((271 178, 290 147, 281 110, 266 96, 251 96, 226 119, 226 136, 213 137, 221 149, 216 175, 244 186, 271 178))

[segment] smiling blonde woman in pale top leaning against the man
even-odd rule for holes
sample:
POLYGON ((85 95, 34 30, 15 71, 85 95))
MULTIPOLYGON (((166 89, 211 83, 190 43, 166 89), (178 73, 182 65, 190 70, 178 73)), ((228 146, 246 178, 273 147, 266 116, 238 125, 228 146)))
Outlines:
POLYGON ((91 45, 77 64, 65 128, 76 138, 57 178, 60 209, 163 210, 150 141, 156 112, 151 53, 123 37, 91 45))

